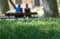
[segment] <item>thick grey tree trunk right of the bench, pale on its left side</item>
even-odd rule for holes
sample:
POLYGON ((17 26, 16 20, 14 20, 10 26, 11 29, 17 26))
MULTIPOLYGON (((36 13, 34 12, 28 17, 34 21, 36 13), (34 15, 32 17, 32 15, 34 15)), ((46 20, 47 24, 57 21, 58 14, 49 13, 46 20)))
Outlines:
POLYGON ((59 17, 57 0, 42 0, 45 17, 59 17))

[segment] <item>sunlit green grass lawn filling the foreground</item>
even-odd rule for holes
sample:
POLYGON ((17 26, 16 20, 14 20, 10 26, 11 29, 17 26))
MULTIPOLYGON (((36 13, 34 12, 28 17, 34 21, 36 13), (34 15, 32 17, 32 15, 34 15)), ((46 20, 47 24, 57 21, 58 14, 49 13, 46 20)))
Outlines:
POLYGON ((60 18, 0 20, 0 39, 60 39, 60 18))

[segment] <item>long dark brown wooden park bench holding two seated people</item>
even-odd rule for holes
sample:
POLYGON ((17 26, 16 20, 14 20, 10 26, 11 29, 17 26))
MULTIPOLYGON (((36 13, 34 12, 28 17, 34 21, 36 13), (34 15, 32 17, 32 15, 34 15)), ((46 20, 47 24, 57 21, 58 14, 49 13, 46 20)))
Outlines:
POLYGON ((19 17, 19 18, 21 18, 21 17, 32 17, 32 15, 37 15, 38 13, 37 12, 30 12, 30 13, 28 13, 28 12, 21 12, 21 13, 5 13, 5 16, 8 16, 8 17, 10 17, 10 16, 15 16, 16 18, 17 17, 19 17))

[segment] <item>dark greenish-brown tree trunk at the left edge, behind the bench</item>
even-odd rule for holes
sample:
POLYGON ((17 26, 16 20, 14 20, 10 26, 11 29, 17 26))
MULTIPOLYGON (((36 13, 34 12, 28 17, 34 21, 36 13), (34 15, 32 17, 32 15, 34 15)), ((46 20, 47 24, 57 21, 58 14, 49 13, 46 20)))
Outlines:
POLYGON ((5 13, 8 10, 8 0, 0 0, 0 13, 5 13))

